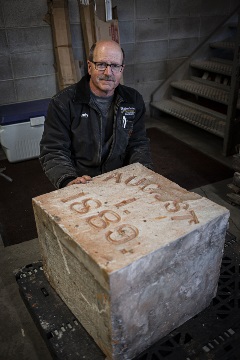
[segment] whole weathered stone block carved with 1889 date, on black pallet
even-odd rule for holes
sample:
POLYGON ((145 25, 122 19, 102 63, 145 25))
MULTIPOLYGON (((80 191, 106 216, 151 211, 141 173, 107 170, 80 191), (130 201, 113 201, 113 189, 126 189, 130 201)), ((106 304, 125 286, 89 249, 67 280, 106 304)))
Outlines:
POLYGON ((140 164, 33 199, 45 274, 109 359, 215 296, 229 212, 140 164))

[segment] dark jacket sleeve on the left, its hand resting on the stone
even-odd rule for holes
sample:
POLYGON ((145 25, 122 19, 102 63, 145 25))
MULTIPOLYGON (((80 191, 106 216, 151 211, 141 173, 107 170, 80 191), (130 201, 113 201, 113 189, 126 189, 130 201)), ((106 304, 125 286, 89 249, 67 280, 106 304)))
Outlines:
POLYGON ((40 163, 51 183, 61 188, 77 177, 71 160, 71 113, 69 106, 54 97, 48 108, 40 142, 40 163))

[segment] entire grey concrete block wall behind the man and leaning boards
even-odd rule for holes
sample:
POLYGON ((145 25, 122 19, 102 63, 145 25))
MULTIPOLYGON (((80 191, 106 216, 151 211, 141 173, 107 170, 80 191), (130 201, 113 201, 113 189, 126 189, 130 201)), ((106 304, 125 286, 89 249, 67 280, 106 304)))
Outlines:
MULTIPOLYGON (((78 1, 68 0, 74 58, 86 73, 78 1)), ((112 0, 117 6, 124 83, 151 93, 239 5, 239 0, 112 0)), ((0 105, 57 91, 47 0, 0 0, 0 105)))

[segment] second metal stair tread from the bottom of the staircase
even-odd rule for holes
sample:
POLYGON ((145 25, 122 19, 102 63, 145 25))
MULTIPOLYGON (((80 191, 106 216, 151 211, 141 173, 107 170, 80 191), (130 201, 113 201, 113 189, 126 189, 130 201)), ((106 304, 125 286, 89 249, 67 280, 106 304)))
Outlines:
MULTIPOLYGON (((204 97, 205 99, 210 99, 224 105, 228 104, 229 92, 226 90, 218 89, 213 86, 203 85, 193 80, 173 81, 171 86, 176 89, 204 97)), ((238 99, 237 108, 240 109, 240 99, 238 99)))

